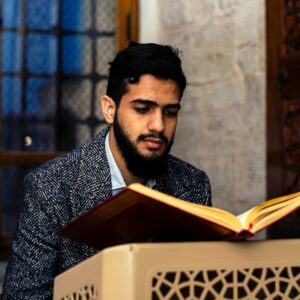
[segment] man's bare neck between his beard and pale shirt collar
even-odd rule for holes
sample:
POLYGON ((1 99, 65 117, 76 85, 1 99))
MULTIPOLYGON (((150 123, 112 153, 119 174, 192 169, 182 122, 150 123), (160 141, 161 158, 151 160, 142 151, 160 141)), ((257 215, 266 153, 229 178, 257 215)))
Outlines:
POLYGON ((145 183, 146 177, 135 176, 127 169, 126 161, 124 160, 122 153, 120 152, 119 147, 116 143, 113 130, 110 130, 109 133, 109 147, 116 161, 116 164, 123 175, 126 185, 129 185, 131 183, 145 183))

